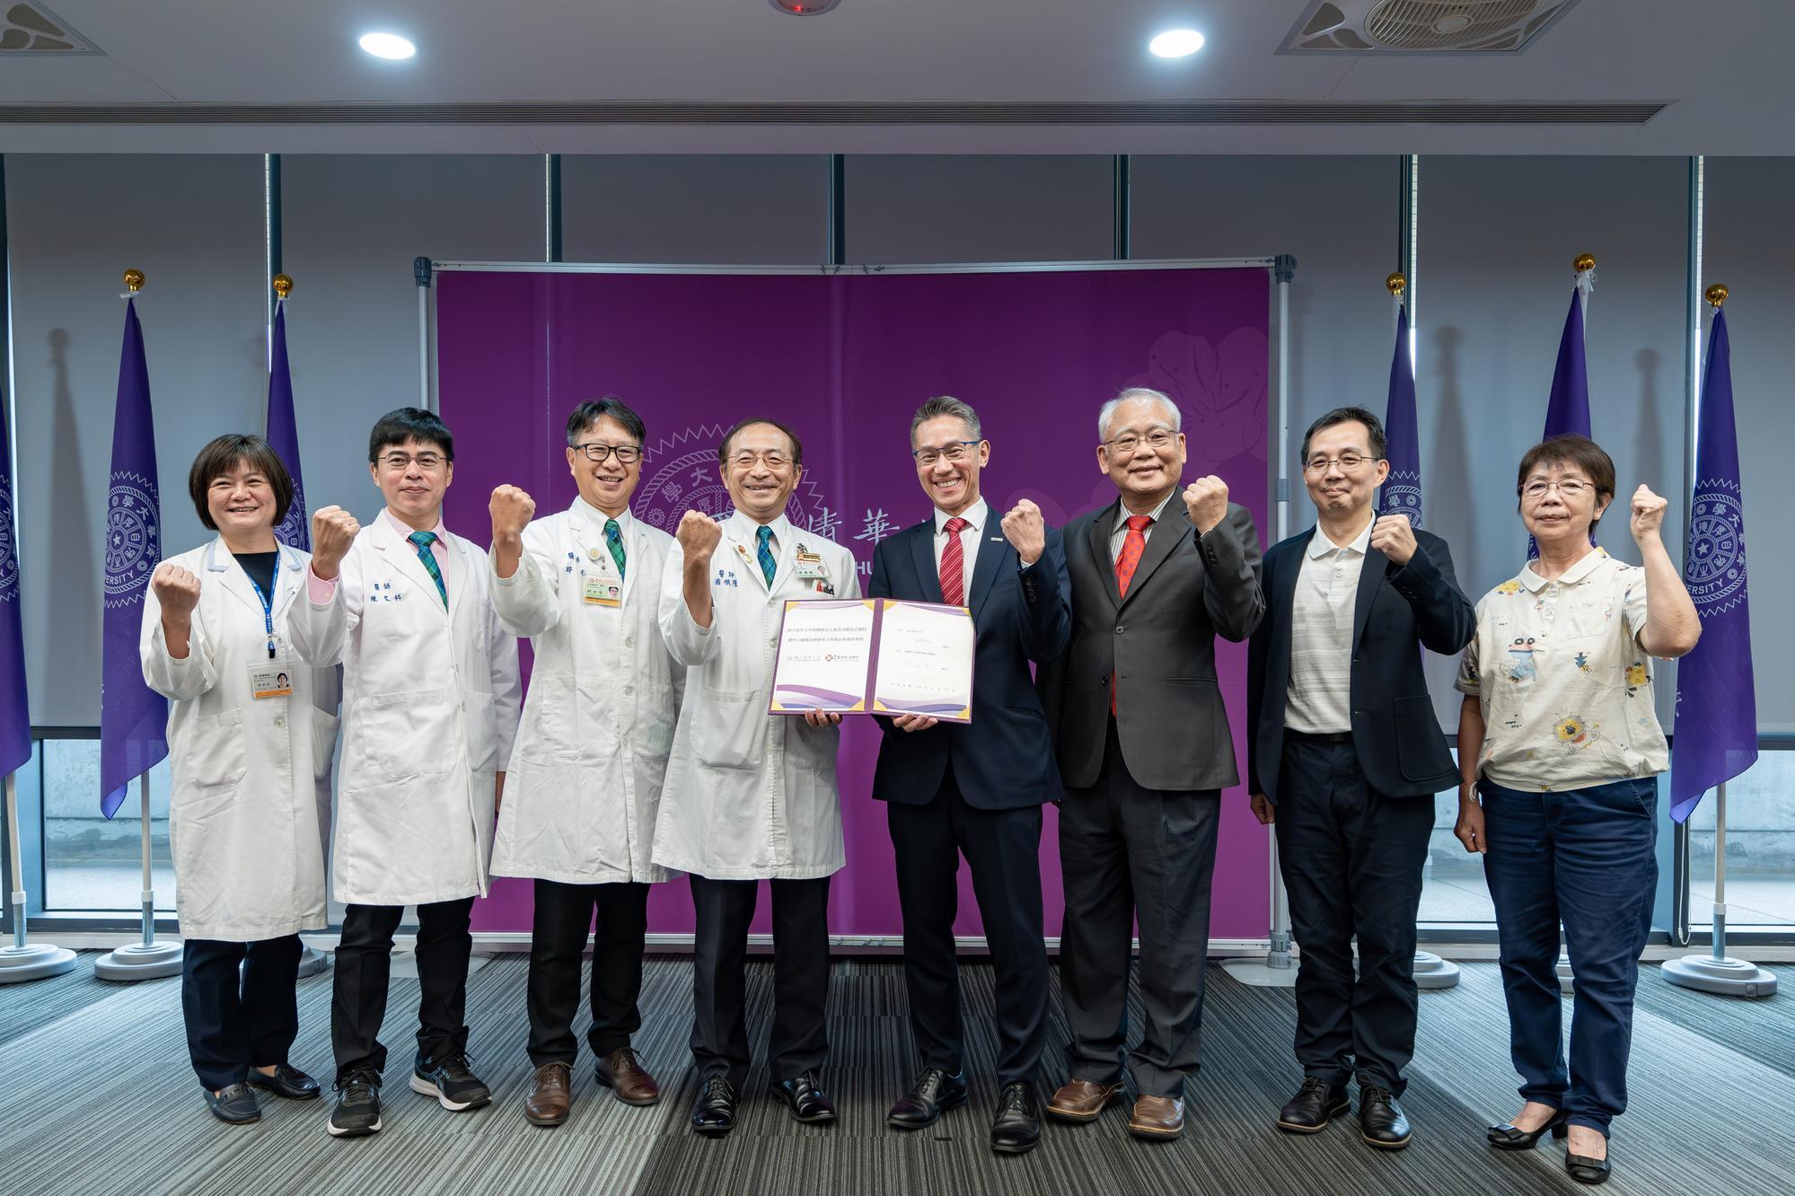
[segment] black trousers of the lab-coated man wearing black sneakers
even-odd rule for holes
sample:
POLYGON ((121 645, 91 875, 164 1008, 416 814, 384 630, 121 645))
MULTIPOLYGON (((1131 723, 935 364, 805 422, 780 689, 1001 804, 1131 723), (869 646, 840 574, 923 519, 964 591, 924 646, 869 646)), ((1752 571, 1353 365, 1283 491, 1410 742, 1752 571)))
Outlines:
MULTIPOLYGON (((404 905, 350 905, 336 955, 330 1045, 337 1079, 354 1070, 386 1068, 381 1022, 393 973, 393 932, 404 905)), ((474 950, 468 916, 474 898, 418 905, 418 1060, 467 1051, 467 959, 474 950)))

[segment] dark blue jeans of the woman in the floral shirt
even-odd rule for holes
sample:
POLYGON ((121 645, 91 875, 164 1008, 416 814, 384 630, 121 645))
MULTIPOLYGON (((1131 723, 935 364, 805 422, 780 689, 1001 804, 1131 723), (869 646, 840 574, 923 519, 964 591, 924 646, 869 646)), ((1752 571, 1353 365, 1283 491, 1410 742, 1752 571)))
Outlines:
POLYGON ((1639 954, 1659 884, 1657 783, 1524 794, 1479 781, 1483 875, 1502 946, 1508 1036, 1520 1095, 1608 1133, 1626 1112, 1639 954), (1558 927, 1576 975, 1565 1070, 1558 927))

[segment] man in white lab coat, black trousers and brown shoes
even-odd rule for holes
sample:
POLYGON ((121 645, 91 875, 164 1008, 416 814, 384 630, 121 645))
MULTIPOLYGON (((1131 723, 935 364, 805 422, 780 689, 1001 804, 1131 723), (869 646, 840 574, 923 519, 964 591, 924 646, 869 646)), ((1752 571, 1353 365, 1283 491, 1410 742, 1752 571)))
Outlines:
POLYGON ((524 1117, 567 1121, 580 955, 592 936, 598 1083, 625 1104, 661 1099, 630 1049, 643 1027, 650 858, 684 668, 661 639, 661 569, 673 537, 630 515, 643 476, 643 418, 621 399, 567 418, 573 506, 531 519, 517 487, 492 492, 492 603, 530 639, 535 663, 512 749, 492 871, 535 878, 530 937, 530 1061, 524 1117))

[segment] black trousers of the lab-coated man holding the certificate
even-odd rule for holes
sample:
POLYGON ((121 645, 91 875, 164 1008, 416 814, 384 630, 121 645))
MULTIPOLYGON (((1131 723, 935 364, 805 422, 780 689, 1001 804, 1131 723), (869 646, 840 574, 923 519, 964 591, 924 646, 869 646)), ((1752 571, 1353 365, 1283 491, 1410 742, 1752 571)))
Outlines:
MULTIPOLYGON (((829 1058, 829 878, 772 880, 774 1029, 766 1067, 775 1081, 822 1068, 829 1058)), ((691 878, 696 934, 691 968, 691 1058, 698 1083, 723 1076, 736 1090, 749 1079, 749 921, 757 880, 691 878)))

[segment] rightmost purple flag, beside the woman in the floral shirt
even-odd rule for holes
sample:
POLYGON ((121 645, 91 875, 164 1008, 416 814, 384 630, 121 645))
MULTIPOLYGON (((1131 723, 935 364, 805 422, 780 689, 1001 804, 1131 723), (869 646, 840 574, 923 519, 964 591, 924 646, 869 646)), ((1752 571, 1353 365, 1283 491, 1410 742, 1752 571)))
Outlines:
POLYGON ((1694 444, 1694 497, 1684 584, 1702 616, 1702 639, 1677 663, 1677 738, 1671 745, 1671 817, 1687 819, 1702 794, 1757 760, 1752 686, 1752 611, 1745 594, 1745 492, 1732 424, 1732 350, 1716 309, 1702 372, 1694 444))

